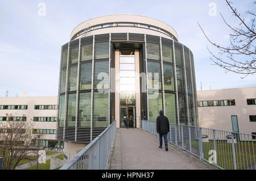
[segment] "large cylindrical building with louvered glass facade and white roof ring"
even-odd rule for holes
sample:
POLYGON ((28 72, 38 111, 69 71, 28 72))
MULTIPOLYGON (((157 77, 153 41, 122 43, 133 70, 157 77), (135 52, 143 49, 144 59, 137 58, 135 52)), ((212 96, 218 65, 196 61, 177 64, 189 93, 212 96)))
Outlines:
POLYGON ((196 99, 193 54, 172 27, 140 15, 90 19, 61 48, 57 140, 74 152, 114 120, 140 128, 160 110, 197 125, 196 99))

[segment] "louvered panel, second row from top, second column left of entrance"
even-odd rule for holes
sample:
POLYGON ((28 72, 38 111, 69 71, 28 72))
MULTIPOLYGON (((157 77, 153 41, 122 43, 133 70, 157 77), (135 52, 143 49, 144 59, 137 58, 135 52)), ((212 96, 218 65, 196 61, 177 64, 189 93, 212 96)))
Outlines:
POLYGON ((92 89, 92 61, 80 64, 80 90, 92 89))

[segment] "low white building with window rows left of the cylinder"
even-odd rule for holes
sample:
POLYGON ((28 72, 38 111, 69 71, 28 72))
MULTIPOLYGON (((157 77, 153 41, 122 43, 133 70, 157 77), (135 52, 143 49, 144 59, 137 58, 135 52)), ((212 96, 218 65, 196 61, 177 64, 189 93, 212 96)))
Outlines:
MULTIPOLYGON (((0 123, 4 121, 31 122, 32 133, 43 134, 42 146, 63 148, 56 140, 57 97, 0 97, 0 123)), ((7 132, 4 128, 2 131, 7 132)))

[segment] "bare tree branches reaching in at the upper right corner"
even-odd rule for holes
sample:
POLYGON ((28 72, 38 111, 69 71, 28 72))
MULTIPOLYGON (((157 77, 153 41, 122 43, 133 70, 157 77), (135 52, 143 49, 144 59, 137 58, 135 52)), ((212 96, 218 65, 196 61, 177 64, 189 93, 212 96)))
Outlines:
MULTIPOLYGON (((236 16, 239 20, 238 27, 232 27, 224 18, 224 16, 220 13, 222 20, 226 26, 230 28, 232 33, 229 35, 229 46, 224 47, 220 44, 214 43, 212 40, 204 32, 203 28, 200 26, 201 31, 204 33, 204 36, 213 45, 213 47, 217 48, 219 56, 214 54, 212 51, 208 51, 212 55, 210 60, 213 61, 214 65, 218 65, 221 68, 224 68, 226 71, 232 71, 234 73, 243 74, 247 77, 248 74, 256 73, 256 33, 255 33, 255 18, 251 18, 250 24, 245 23, 245 19, 243 19, 238 13, 238 10, 233 7, 233 3, 225 0, 229 9, 232 10, 232 14, 236 16)), ((256 5, 256 2, 253 2, 253 5, 256 5)), ((255 16, 254 12, 249 10, 246 11, 246 14, 255 16)), ((243 78, 245 78, 243 77, 243 78)))

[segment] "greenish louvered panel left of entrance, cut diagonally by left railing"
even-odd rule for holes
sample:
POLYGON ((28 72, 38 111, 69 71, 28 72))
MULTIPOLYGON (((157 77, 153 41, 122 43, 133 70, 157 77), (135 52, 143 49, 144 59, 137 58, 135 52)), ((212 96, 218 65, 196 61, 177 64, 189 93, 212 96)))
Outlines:
POLYGON ((92 138, 109 125, 109 92, 93 92, 92 138))

